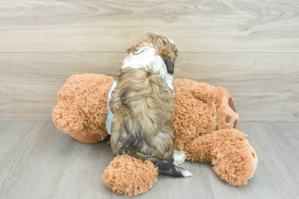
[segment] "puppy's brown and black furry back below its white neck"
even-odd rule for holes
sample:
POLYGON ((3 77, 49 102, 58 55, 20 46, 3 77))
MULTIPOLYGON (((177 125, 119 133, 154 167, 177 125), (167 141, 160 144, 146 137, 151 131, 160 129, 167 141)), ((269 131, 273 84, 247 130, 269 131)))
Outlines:
POLYGON ((109 103, 114 114, 111 128, 114 155, 141 153, 171 160, 174 91, 151 70, 121 69, 117 81, 109 103), (160 138, 166 142, 160 143, 160 138), (158 146, 152 146, 155 144, 158 146), (171 155, 165 154, 167 151, 171 155))

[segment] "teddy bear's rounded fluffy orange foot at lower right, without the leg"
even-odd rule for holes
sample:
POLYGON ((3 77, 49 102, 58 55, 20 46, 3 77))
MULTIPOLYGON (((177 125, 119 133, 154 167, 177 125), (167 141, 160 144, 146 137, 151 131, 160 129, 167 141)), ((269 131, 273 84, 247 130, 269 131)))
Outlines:
POLYGON ((212 160, 215 172, 230 185, 247 184, 258 165, 257 154, 245 138, 247 135, 236 129, 222 129, 214 134, 221 138, 212 160))

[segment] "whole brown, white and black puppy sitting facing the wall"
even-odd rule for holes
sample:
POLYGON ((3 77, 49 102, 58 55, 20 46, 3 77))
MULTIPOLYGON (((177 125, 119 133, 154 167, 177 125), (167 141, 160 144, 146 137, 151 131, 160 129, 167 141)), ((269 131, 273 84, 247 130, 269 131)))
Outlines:
POLYGON ((162 173, 186 177, 192 174, 176 166, 186 155, 174 154, 170 126, 175 110, 171 75, 177 52, 171 39, 153 33, 128 49, 109 102, 114 114, 111 146, 114 156, 149 160, 162 173))

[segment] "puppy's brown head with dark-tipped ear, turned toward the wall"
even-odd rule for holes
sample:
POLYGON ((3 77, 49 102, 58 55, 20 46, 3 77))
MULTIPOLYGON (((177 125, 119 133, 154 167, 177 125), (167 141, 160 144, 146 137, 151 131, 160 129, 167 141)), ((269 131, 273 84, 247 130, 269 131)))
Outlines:
POLYGON ((167 72, 172 75, 174 72, 175 59, 178 53, 175 43, 166 36, 148 33, 139 39, 135 45, 127 49, 127 51, 128 53, 132 52, 136 54, 138 53, 139 47, 146 46, 155 48, 156 54, 164 60, 167 72))

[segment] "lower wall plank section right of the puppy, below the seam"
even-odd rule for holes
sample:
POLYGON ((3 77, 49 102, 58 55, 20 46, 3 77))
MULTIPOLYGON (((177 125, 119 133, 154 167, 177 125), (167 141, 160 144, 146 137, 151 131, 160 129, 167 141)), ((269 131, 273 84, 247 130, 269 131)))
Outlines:
POLYGON ((299 121, 297 53, 184 53, 175 77, 224 87, 240 121, 299 121))

